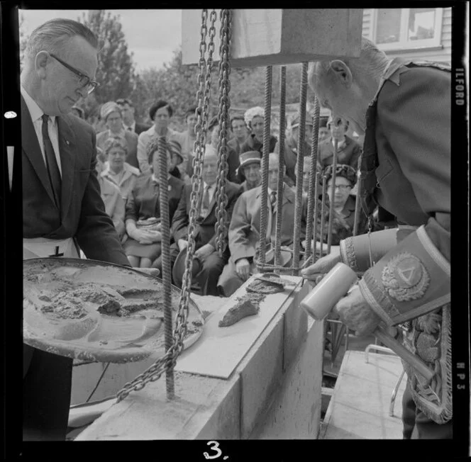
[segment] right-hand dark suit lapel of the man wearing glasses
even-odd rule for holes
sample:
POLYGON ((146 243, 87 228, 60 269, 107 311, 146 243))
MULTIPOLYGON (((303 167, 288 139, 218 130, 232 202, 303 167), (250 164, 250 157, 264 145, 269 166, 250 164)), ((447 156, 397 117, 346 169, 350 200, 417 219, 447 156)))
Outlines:
POLYGON ((62 169, 62 188, 60 208, 62 217, 67 215, 67 211, 72 201, 72 191, 74 187, 75 156, 79 155, 75 144, 75 135, 70 127, 70 122, 65 117, 57 117, 57 132, 59 137, 60 164, 62 169))

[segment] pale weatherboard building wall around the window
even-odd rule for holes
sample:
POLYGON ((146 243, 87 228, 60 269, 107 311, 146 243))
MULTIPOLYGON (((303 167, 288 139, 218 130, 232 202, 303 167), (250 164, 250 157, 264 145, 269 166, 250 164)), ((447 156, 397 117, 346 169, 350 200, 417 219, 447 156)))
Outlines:
MULTIPOLYGON (((442 29, 439 47, 421 48, 418 50, 384 50, 389 57, 404 57, 416 60, 451 62, 451 8, 443 8, 442 29)), ((363 10, 363 36, 374 40, 375 10, 363 10)))

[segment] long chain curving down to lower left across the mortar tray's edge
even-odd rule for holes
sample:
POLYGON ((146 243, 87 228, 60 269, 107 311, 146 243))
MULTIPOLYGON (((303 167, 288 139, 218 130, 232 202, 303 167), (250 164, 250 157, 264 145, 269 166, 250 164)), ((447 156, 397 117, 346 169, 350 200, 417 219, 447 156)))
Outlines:
MULTIPOLYGON (((173 331, 173 342, 170 348, 165 351, 165 355, 157 359, 155 363, 146 369, 143 373, 133 379, 133 381, 126 383, 123 388, 116 394, 116 402, 120 402, 131 391, 142 390, 148 382, 157 381, 162 373, 167 369, 171 371, 175 364, 177 364, 177 357, 183 349, 183 339, 187 334, 187 319, 189 312, 189 294, 192 286, 192 261, 194 255, 194 234, 196 228, 196 204, 201 199, 201 164, 204 157, 204 146, 206 142, 206 124, 208 121, 209 109, 209 95, 211 91, 211 68, 213 65, 214 53, 214 36, 216 35, 216 10, 211 11, 209 28, 209 47, 208 59, 204 59, 206 52, 206 22, 208 18, 207 10, 201 12, 201 43, 200 43, 200 59, 199 59, 199 75, 198 86, 199 89, 196 93, 198 100, 198 120, 196 122, 196 141, 194 142, 194 174, 192 177, 192 194, 190 196, 191 207, 189 211, 189 225, 188 225, 188 247, 187 257, 185 259, 185 271, 182 278, 182 293, 180 296, 180 303, 175 320, 175 327, 173 331)), ((170 274, 170 273, 169 273, 170 274)))

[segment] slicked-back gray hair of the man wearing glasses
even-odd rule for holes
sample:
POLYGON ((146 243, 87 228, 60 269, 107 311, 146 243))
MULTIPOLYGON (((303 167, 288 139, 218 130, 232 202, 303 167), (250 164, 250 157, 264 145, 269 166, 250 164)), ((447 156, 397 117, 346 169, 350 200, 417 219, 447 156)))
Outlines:
POLYGON ((60 54, 70 39, 77 35, 98 48, 98 38, 84 24, 72 19, 51 19, 33 30, 26 45, 25 57, 32 60, 42 50, 60 54))

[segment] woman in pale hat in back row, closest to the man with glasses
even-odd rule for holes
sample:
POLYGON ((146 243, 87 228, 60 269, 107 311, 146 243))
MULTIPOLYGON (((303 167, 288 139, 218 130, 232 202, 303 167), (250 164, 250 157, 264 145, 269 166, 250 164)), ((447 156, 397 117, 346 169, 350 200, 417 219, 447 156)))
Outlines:
POLYGON ((139 169, 138 164, 138 135, 123 128, 123 118, 121 117, 121 108, 114 101, 108 101, 101 106, 100 118, 104 120, 106 128, 98 135, 96 135, 96 146, 104 150, 105 142, 110 137, 120 137, 126 140, 128 145, 128 152, 126 155, 126 162, 139 169))

